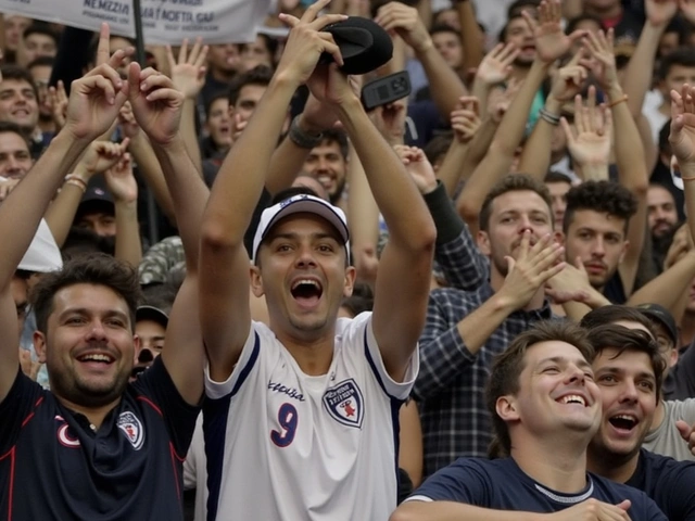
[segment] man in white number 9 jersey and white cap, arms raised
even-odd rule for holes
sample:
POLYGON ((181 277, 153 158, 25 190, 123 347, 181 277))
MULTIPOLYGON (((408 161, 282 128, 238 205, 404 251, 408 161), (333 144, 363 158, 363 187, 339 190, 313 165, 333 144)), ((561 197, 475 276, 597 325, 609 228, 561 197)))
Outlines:
POLYGON ((386 520, 396 504, 397 411, 418 369, 435 229, 348 78, 334 63, 317 66, 324 52, 342 63, 323 28, 343 17, 317 17, 327 4, 301 21, 281 15, 285 53, 203 218, 208 519, 386 520), (251 266, 243 246, 302 84, 340 118, 389 226, 374 313, 352 320, 337 318, 355 280, 339 208, 291 198, 264 212, 251 266), (251 321, 249 284, 265 295, 269 327, 251 321))

